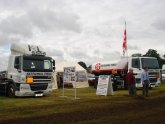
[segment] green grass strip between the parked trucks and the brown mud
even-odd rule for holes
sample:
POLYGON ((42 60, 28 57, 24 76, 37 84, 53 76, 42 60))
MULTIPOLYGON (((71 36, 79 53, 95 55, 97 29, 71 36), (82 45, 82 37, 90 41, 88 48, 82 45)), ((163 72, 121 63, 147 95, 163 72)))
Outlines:
MULTIPOLYGON (((92 108, 102 108, 103 106, 137 102, 137 99, 128 97, 127 90, 115 91, 113 96, 97 96, 96 89, 93 87, 77 89, 77 97, 80 99, 74 99, 74 89, 65 90, 64 95, 67 97, 60 97, 62 93, 62 89, 57 89, 52 94, 39 98, 8 98, 0 96, 0 122, 10 119, 47 116, 56 113, 87 111, 92 108)), ((138 96, 141 93, 141 90, 137 90, 138 96)), ((165 84, 153 88, 150 90, 150 94, 152 97, 147 99, 165 96, 165 84)), ((101 120, 99 121, 98 119, 97 121, 100 122, 101 120)))

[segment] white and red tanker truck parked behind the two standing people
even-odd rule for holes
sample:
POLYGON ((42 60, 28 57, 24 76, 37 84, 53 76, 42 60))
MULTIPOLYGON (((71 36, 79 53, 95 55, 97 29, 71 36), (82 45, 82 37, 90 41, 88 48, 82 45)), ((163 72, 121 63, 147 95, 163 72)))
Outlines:
POLYGON ((111 75, 113 78, 113 87, 116 90, 118 87, 127 88, 126 74, 129 68, 132 68, 136 78, 136 87, 142 87, 141 73, 144 67, 149 69, 150 87, 155 87, 160 84, 160 69, 156 58, 154 57, 123 57, 114 63, 95 63, 92 65, 92 73, 98 75, 111 75))

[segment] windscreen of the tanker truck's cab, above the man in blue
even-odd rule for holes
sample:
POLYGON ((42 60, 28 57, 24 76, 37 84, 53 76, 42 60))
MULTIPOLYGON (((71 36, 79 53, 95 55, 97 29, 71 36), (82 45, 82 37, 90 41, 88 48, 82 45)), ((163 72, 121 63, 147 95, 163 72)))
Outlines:
POLYGON ((142 58, 142 68, 148 67, 149 69, 159 69, 158 60, 154 58, 142 58))

